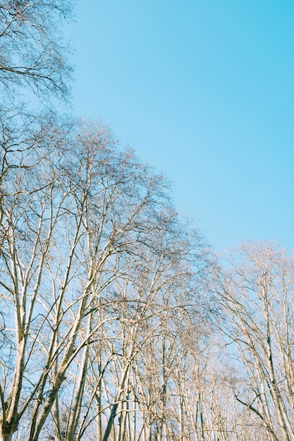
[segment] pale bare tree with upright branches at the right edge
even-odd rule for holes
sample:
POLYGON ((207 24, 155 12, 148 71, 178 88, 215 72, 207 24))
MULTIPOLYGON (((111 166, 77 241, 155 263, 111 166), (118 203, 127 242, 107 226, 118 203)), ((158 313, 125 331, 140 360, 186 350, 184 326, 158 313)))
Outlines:
POLYGON ((276 441, 294 440, 293 281, 293 256, 271 243, 244 244, 217 288, 221 326, 245 378, 235 399, 276 441))

